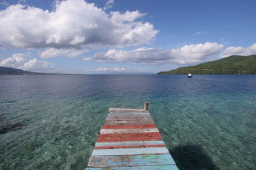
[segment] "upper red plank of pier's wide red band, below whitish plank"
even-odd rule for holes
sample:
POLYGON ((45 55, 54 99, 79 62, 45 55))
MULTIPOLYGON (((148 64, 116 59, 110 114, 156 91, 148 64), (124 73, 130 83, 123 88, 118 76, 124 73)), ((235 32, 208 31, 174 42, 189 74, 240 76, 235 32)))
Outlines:
POLYGON ((152 138, 159 137, 161 134, 159 132, 148 132, 148 133, 127 133, 127 134, 100 134, 98 138, 152 138))

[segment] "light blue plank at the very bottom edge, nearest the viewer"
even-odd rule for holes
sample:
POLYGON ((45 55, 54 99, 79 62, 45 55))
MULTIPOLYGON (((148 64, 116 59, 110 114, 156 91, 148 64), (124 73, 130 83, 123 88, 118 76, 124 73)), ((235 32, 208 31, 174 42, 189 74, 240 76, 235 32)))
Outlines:
POLYGON ((161 166, 161 165, 156 165, 156 166, 120 166, 120 167, 86 167, 86 170, 149 170, 149 169, 154 169, 154 170, 179 170, 176 165, 170 165, 170 166, 161 166))

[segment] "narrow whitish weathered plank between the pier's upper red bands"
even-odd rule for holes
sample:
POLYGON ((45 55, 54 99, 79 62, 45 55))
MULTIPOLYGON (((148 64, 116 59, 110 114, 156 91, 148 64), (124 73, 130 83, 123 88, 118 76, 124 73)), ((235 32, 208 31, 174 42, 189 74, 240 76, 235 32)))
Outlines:
POLYGON ((159 132, 157 128, 148 129, 101 129, 100 134, 147 133, 159 132))

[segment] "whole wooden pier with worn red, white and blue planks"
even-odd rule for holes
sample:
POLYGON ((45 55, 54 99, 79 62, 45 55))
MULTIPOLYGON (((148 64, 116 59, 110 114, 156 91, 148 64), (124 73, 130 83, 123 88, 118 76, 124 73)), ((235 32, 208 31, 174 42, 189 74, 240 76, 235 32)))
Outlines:
POLYGON ((109 108, 88 169, 178 169, 144 108, 109 108))

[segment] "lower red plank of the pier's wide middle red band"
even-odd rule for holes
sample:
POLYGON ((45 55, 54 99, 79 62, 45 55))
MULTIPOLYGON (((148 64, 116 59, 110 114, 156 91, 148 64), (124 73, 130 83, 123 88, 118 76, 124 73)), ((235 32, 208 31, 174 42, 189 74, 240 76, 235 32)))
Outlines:
POLYGON ((163 140, 161 136, 159 137, 154 137, 154 138, 116 138, 116 139, 97 139, 96 142, 119 142, 119 141, 158 141, 158 140, 163 140))

